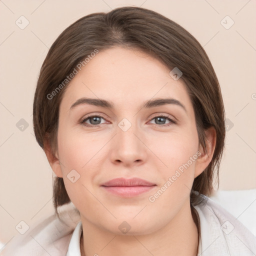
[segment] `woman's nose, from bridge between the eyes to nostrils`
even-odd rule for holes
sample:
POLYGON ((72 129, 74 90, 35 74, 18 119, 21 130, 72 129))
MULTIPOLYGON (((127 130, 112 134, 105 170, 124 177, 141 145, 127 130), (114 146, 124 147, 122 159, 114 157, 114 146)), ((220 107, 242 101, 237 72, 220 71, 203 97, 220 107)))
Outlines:
POLYGON ((111 160, 125 166, 143 163, 148 150, 139 127, 134 123, 130 124, 125 120, 118 123, 116 135, 111 142, 111 160))

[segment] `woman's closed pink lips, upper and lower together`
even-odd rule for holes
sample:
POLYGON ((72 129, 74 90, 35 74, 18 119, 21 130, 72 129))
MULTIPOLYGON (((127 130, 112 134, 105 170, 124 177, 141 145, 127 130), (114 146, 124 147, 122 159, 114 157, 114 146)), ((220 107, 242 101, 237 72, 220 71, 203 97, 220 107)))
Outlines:
POLYGON ((155 184, 141 178, 114 178, 101 186, 115 195, 132 197, 149 191, 155 184))

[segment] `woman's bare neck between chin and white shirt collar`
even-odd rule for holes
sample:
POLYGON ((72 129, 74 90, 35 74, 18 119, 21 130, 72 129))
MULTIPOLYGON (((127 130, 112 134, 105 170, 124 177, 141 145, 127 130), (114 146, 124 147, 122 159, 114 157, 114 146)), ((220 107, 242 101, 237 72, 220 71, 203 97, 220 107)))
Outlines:
POLYGON ((163 228, 144 235, 119 235, 99 229, 91 222, 82 218, 80 241, 81 256, 160 256, 179 255, 196 256, 198 233, 193 221, 190 204, 186 210, 178 212, 163 228))

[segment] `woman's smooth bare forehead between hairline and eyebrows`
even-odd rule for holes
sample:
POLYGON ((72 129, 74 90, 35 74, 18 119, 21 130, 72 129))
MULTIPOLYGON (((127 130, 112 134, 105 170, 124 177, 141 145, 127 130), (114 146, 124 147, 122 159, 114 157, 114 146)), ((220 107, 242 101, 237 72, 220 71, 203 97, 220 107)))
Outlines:
POLYGON ((174 80, 169 71, 162 62, 138 49, 113 47, 99 51, 70 81, 61 104, 70 107, 81 97, 93 97, 130 108, 151 98, 170 97, 190 108, 183 81, 174 80))

